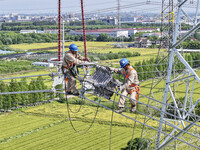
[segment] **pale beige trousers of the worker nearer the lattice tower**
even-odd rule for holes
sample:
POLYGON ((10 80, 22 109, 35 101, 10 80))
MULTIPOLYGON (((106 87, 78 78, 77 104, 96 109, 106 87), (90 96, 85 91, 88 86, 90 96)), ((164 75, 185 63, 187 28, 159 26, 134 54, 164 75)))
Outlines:
MULTIPOLYGON (((121 94, 124 95, 124 96, 128 96, 129 93, 128 93, 127 90, 123 89, 122 92, 121 92, 121 94)), ((124 96, 120 96, 120 99, 119 99, 119 107, 124 107, 124 103, 125 103, 125 101, 126 101, 126 98, 125 98, 124 96)), ((136 92, 135 92, 135 91, 132 92, 132 93, 130 94, 130 98, 136 100, 136 92)), ((134 100, 131 100, 131 99, 129 99, 130 102, 131 102, 133 105, 136 105, 137 102, 134 101, 134 100)))

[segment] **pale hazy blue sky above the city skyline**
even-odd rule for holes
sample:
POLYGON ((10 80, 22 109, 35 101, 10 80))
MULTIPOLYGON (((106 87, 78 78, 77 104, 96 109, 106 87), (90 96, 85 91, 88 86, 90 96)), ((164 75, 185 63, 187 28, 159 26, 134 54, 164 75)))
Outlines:
MULTIPOLYGON (((61 0, 62 13, 81 12, 81 0, 61 0)), ((174 0, 176 3, 177 0, 174 0)), ((191 0, 188 0, 190 6, 191 0)), ((195 5, 195 1, 194 5, 195 5)), ((118 0, 83 0, 85 13, 116 12, 118 0)), ((166 0, 167 2, 167 0, 166 0)), ((161 0, 120 0, 120 11, 160 13, 161 0), (148 3, 150 1, 150 3, 148 3)), ((194 10, 194 9, 193 9, 194 10)), ((57 14, 58 0, 0 0, 0 14, 57 14)))

